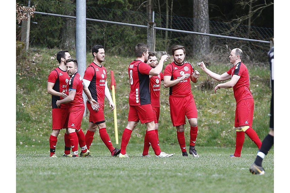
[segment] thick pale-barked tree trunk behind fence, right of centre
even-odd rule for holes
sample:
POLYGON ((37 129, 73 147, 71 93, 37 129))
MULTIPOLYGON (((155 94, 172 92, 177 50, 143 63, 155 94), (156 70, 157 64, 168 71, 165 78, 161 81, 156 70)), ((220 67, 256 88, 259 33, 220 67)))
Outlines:
MULTIPOLYGON (((209 33, 208 0, 193 0, 193 31, 209 33)), ((209 36, 193 35, 193 52, 196 55, 209 53, 209 36)))

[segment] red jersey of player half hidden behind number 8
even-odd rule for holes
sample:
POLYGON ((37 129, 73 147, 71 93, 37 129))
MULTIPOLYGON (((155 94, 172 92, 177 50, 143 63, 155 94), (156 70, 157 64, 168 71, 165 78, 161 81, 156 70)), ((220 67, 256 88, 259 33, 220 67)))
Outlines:
POLYGON ((160 85, 163 81, 163 73, 160 72, 159 75, 153 76, 150 78, 150 97, 151 97, 151 106, 160 107, 160 85))

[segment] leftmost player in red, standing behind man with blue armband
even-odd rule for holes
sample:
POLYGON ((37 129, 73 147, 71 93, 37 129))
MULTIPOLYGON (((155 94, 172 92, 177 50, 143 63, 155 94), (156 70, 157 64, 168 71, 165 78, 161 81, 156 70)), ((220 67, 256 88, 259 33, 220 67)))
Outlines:
POLYGON ((56 157, 55 148, 57 142, 57 136, 60 133, 60 129, 66 128, 64 134, 64 153, 63 157, 72 157, 70 154, 70 141, 69 133, 67 131, 68 105, 62 104, 60 108, 56 106, 56 101, 65 98, 67 83, 69 81, 69 75, 66 72, 66 60, 70 59, 69 51, 61 50, 57 52, 56 59, 59 62, 59 66, 50 72, 47 80, 47 93, 51 94, 51 106, 52 106, 52 133, 49 138, 50 157, 56 157))

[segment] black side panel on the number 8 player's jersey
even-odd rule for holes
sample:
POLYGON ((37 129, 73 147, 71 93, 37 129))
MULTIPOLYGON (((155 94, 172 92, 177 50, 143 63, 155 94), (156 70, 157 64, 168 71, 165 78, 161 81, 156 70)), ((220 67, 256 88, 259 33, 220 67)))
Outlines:
MULTIPOLYGON (((140 63, 139 63, 140 64, 140 63)), ((150 88, 149 88, 149 75, 141 74, 139 72, 139 64, 137 65, 138 78, 139 78, 139 99, 140 105, 151 104, 150 88)))

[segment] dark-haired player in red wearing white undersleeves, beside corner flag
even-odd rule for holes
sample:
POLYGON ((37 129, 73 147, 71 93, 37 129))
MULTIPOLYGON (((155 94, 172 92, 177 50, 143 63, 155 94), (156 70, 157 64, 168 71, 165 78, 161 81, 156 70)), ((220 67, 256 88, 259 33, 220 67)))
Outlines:
POLYGON ((89 117, 89 128, 85 134, 85 142, 90 149, 92 141, 94 139, 95 131, 99 130, 100 137, 104 144, 108 147, 112 156, 116 156, 120 153, 120 149, 117 147, 114 148, 111 143, 111 139, 107 133, 107 126, 105 123, 104 117, 104 100, 105 96, 109 101, 109 106, 112 106, 112 110, 114 110, 115 105, 113 103, 108 83, 107 83, 107 70, 101 64, 105 61, 105 50, 101 45, 95 45, 92 47, 92 55, 94 57, 94 61, 88 66, 85 70, 85 75, 83 81, 85 85, 89 88, 89 91, 94 100, 99 103, 99 110, 94 111, 89 102, 87 102, 87 108, 90 111, 89 117))

